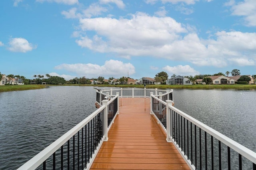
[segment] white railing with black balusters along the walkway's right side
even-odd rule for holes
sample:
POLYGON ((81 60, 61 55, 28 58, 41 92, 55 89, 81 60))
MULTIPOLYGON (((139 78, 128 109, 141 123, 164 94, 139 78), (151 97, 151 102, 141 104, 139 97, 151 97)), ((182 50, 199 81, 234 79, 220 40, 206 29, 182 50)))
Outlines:
POLYGON ((191 169, 242 169, 245 166, 256 170, 256 153, 252 150, 173 107, 172 100, 164 102, 151 93, 150 103, 150 112, 166 132, 166 140, 174 144, 191 169), (248 164, 248 160, 251 163, 248 164))

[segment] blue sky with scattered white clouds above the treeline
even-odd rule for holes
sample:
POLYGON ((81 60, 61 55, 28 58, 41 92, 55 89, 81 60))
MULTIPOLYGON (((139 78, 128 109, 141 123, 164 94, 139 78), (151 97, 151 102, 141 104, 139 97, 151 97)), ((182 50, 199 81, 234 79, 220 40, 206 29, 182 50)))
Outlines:
POLYGON ((256 0, 1 0, 0 72, 256 74, 256 0))

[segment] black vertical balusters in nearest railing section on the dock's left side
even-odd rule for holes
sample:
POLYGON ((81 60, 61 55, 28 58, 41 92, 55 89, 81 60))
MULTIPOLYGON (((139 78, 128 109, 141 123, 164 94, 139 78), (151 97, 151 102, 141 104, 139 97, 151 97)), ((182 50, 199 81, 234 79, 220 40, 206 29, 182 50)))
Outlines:
POLYGON ((103 141, 104 109, 36 169, 84 169, 103 141))

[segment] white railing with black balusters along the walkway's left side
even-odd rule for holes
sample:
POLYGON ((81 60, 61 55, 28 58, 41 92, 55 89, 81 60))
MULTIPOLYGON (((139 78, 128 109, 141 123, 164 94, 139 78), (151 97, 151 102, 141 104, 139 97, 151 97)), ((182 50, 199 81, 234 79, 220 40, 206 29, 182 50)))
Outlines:
MULTIPOLYGON (((107 141, 108 140, 108 131, 112 125, 112 123, 114 122, 114 119, 116 117, 116 114, 118 114, 118 109, 116 111, 116 113, 112 113, 111 115, 113 116, 111 118, 111 121, 108 122, 108 118, 109 118, 109 109, 108 107, 110 107, 110 105, 112 104, 112 102, 114 101, 118 101, 118 93, 116 94, 116 96, 114 96, 111 100, 103 100, 102 101, 102 106, 100 108, 98 108, 96 111, 94 111, 91 115, 89 115, 88 117, 86 117, 83 121, 81 121, 80 123, 78 123, 78 125, 76 125, 75 127, 73 127, 72 129, 70 129, 70 131, 68 131, 67 133, 65 133, 64 135, 62 135, 59 139, 57 139, 56 141, 54 141, 51 145, 49 145, 48 147, 46 147, 44 150, 42 150, 40 153, 38 153, 36 156, 34 156, 33 158, 31 158, 30 160, 28 160, 28 162, 26 162, 25 164, 23 164, 20 168, 18 168, 18 170, 34 170, 36 168, 38 168, 39 166, 42 166, 43 169, 46 169, 46 167, 48 167, 46 165, 46 160, 53 155, 53 160, 50 160, 49 162, 51 162, 51 164, 53 164, 53 168, 63 168, 65 169, 65 167, 67 165, 63 165, 63 160, 66 160, 68 161, 68 165, 71 164, 71 162, 73 160, 67 160, 69 158, 69 152, 70 152, 70 139, 72 140, 72 137, 73 137, 73 146, 76 145, 76 148, 77 148, 77 145, 78 145, 78 148, 79 148, 79 144, 82 145, 83 147, 83 144, 85 142, 85 147, 88 146, 88 155, 90 155, 90 157, 87 157, 87 152, 85 152, 85 164, 84 166, 82 166, 81 168, 82 169, 90 169, 90 166, 94 160, 94 158, 96 157, 96 154, 98 152, 98 150, 100 149, 103 141, 107 141), (103 119, 104 118, 104 119, 103 119), (91 123, 90 123, 91 122, 91 123), (99 123, 100 122, 100 123, 99 123), (104 122, 104 123, 103 123, 104 122), (88 124, 89 123, 89 124, 88 124), (101 125, 103 127, 97 127, 97 125, 101 125), (93 126, 93 127, 92 127, 93 126), (83 130, 83 128, 85 127, 85 130, 83 130), (86 130, 86 128, 88 130, 86 130), (93 128, 93 129, 90 129, 90 128, 93 128), (82 129, 82 131, 81 131, 82 129), (96 131, 98 130, 98 131, 96 131), (84 131, 87 131, 87 132, 84 132, 84 131), (95 132, 96 131, 96 132, 95 132), (84 137, 82 136, 84 133, 91 133, 91 140, 92 140, 92 135, 93 135, 93 141, 90 141, 90 136, 88 138, 85 138, 85 141, 84 140, 84 137), (92 133, 93 132, 93 133, 92 133), (97 133, 97 134, 94 134, 94 133, 97 133), (82 134, 82 135, 81 135, 82 134), (75 140, 75 135, 77 135, 77 143, 75 144, 74 140, 75 140), (79 135, 81 135, 79 137, 79 135), (98 136, 101 136, 100 139, 97 139, 96 140, 96 137, 98 136), (95 137, 95 139, 94 139, 95 137), (82 140, 82 142, 80 141, 82 140), (89 141, 89 144, 88 144, 88 141, 89 141), (95 143, 95 142, 98 142, 98 143, 95 143), (86 143, 87 142, 87 143, 86 143), (67 144, 68 143, 68 144, 67 144), (91 145, 90 145, 91 143, 91 145), (66 146, 68 145, 68 146, 66 146), (63 146, 64 147, 68 147, 68 150, 66 151, 67 152, 67 155, 68 155, 68 158, 63 158, 63 146), (61 159, 61 165, 56 165, 55 164, 55 160, 57 158, 55 158, 55 156, 57 156, 56 154, 56 151, 59 150, 61 148, 61 158, 58 158, 59 160, 61 159), (90 151, 91 150, 91 151, 90 151), (69 163, 70 162, 70 163, 69 163), (85 167, 85 168, 84 168, 85 167)), ((118 102, 117 102, 118 104, 118 102)), ((118 105, 117 105, 117 108, 118 108, 118 105)), ((89 133, 89 135, 90 135, 89 133)), ((72 141, 71 141, 72 143, 72 141)), ((72 147, 72 146, 71 146, 72 147)), ((79 162, 81 162, 81 164, 84 163, 84 158, 83 158, 83 153, 84 153, 84 150, 75 150, 75 147, 73 147, 74 149, 74 153, 76 152, 76 156, 78 158, 76 158, 76 162, 72 162, 73 163, 73 167, 80 167, 81 165, 79 165, 79 162), (80 154, 79 152, 82 154, 82 160, 79 160, 81 159, 81 157, 79 158, 80 154), (77 154, 78 153, 78 154, 77 154), (78 160, 77 160, 78 159, 78 160), (78 162, 78 163, 77 163, 78 162)), ((73 153, 73 154, 74 154, 73 153)), ((65 156, 67 156, 65 155, 65 156)), ((74 157, 73 157, 74 158, 74 157)), ((59 161, 60 162, 60 161, 59 161)), ((71 165, 70 165, 71 166, 71 165)), ((67 168, 67 167, 66 167, 67 168)))

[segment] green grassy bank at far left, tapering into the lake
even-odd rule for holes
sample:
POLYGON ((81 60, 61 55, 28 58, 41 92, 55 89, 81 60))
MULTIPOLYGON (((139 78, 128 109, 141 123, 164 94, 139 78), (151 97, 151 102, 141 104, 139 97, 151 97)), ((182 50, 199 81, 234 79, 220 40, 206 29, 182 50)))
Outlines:
POLYGON ((16 90, 32 90, 45 88, 45 85, 29 84, 29 85, 11 85, 11 86, 0 86, 0 92, 16 91, 16 90))

